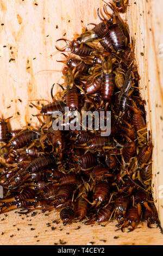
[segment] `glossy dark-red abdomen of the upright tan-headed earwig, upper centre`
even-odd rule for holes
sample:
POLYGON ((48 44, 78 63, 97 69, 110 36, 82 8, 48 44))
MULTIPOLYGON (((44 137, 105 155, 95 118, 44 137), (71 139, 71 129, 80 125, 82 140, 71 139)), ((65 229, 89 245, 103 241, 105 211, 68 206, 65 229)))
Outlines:
POLYGON ((114 75, 112 73, 103 74, 101 95, 102 98, 109 103, 114 95, 114 86, 114 75))

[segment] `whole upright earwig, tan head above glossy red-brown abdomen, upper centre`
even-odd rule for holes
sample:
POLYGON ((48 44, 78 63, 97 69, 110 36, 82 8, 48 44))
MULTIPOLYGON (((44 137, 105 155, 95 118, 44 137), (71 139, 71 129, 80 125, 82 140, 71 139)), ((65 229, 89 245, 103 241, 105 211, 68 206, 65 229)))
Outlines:
POLYGON ((103 100, 110 103, 112 96, 114 94, 114 74, 112 73, 112 62, 109 58, 106 62, 102 63, 103 69, 103 81, 101 95, 103 100))

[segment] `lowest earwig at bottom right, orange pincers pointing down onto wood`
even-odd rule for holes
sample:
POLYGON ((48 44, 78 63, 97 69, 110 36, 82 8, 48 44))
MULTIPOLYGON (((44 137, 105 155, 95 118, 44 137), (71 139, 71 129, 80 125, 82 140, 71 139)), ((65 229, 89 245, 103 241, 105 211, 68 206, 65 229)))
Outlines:
POLYGON ((140 215, 137 212, 137 208, 131 207, 127 210, 125 218, 124 218, 124 224, 121 227, 122 232, 124 232, 124 228, 126 228, 128 225, 131 225, 132 229, 129 230, 133 231, 140 222, 140 215))

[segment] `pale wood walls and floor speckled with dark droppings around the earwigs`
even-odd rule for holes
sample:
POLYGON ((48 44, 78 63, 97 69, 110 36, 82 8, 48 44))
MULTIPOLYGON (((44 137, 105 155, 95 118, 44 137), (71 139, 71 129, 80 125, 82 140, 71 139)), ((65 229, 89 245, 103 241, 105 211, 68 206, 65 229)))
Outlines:
MULTIPOLYGON (((163 3, 161 0, 130 0, 129 4, 127 17, 130 33, 136 38, 136 61, 141 76, 140 87, 143 88, 141 93, 144 99, 148 99, 147 120, 148 127, 152 127, 154 199, 163 223, 163 202, 159 191, 159 186, 163 185, 163 3), (144 56, 141 56, 141 52, 144 56)), ((61 56, 55 50, 55 41, 62 37, 71 39, 74 33, 82 31, 82 25, 99 22, 97 8, 102 5, 101 0, 0 1, 0 24, 4 24, 0 26, 0 102, 3 106, 0 115, 3 114, 5 118, 14 115, 11 120, 13 129, 26 125, 27 122, 36 125, 36 118, 32 114, 37 111, 29 107, 30 100, 51 101, 51 86, 54 82, 61 81, 62 64, 56 62, 61 56)), ((30 215, 22 216, 24 220, 14 212, 10 212, 7 217, 2 215, 4 220, 0 221, 0 244, 53 245, 54 242, 60 243, 59 239, 66 241, 66 245, 86 245, 89 242, 95 242, 94 245, 163 244, 160 230, 148 229, 146 223, 129 234, 114 231, 116 223, 110 223, 105 228, 101 225, 87 227, 82 223, 63 227, 61 223, 52 223, 52 227, 57 227, 52 230, 46 223, 56 220, 55 214, 37 214, 35 217, 30 215), (33 225, 28 225, 30 223, 33 225), (78 226, 81 228, 76 229, 78 226), (11 235, 14 236, 10 237, 11 235), (118 236, 118 239, 114 239, 114 236, 118 236)))

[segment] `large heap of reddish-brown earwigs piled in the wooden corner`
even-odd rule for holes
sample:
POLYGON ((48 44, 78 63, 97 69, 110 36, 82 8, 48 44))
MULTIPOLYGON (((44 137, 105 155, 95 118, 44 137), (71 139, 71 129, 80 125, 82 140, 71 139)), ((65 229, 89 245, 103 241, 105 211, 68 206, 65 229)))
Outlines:
MULTIPOLYGON (((117 220, 122 231, 141 221, 159 225, 152 198, 152 139, 147 131, 145 101, 134 62, 134 39, 118 12, 127 1, 104 3, 101 22, 85 29, 62 52, 62 92, 35 116, 40 127, 9 131, 0 121, 1 213, 33 210, 60 212, 64 225, 117 220), (110 14, 111 13, 111 14, 110 14), (101 130, 53 130, 55 111, 111 111, 111 134, 101 130)), ((90 26, 90 25, 89 25, 90 26)), ((56 86, 56 85, 55 85, 56 86)), ((106 223, 106 224, 107 224, 106 223)))

